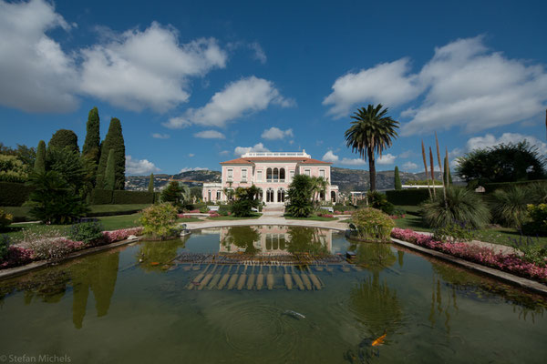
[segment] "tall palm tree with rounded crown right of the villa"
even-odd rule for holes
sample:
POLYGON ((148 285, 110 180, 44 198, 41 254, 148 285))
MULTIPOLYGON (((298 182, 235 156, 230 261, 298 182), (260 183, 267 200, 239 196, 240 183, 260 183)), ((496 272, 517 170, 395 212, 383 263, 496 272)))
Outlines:
POLYGON ((391 116, 386 116, 387 107, 378 104, 358 108, 351 116, 353 121, 346 130, 346 146, 351 147, 352 152, 359 154, 363 160, 368 160, 370 173, 370 190, 376 189, 376 164, 374 155, 378 153, 382 157, 384 149, 391 147, 392 138, 397 137, 399 122, 391 116))

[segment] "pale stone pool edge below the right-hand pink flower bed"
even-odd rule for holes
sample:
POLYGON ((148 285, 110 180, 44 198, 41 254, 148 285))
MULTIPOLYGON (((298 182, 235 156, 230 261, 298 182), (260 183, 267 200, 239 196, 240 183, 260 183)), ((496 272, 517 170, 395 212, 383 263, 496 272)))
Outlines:
POLYGON ((427 254, 429 256, 432 256, 434 258, 439 258, 441 260, 448 261, 450 263, 462 266, 464 268, 468 268, 470 270, 473 270, 475 272, 479 272, 483 275, 500 279, 506 283, 509 283, 513 286, 517 286, 519 288, 524 288, 527 290, 530 290, 534 293, 539 293, 543 296, 547 296, 547 286, 543 285, 540 282, 536 282, 535 280, 528 279, 528 278, 522 278, 519 276, 515 276, 511 273, 504 272, 499 269, 489 268, 482 266, 477 263, 470 262, 469 260, 461 259, 452 257, 449 254, 441 253, 437 250, 432 250, 428 248, 420 247, 416 244, 409 243, 408 241, 399 240, 397 238, 391 238, 391 241, 393 241, 395 244, 403 246, 405 248, 410 248, 412 250, 416 250, 420 253, 427 254))

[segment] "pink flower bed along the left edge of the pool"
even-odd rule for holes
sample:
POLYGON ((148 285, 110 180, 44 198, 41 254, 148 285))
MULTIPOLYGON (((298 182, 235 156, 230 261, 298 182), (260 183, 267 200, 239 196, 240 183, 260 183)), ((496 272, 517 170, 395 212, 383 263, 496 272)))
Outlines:
POLYGON ((116 241, 125 240, 131 235, 141 235, 142 227, 121 228, 114 231, 103 231, 103 238, 93 244, 73 241, 63 237, 36 238, 27 241, 26 247, 11 245, 7 254, 0 260, 0 269, 24 266, 30 262, 46 259, 59 259, 85 248, 97 247, 116 241))

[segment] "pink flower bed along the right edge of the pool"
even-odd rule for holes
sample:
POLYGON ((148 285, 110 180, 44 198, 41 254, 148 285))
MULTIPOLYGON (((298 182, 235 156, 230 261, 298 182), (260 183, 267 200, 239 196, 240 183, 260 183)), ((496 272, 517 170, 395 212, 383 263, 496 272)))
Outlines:
POLYGON ((491 248, 470 246, 466 243, 443 243, 431 236, 397 227, 391 231, 391 237, 408 241, 420 247, 438 250, 442 253, 469 260, 486 267, 500 269, 517 276, 547 283, 547 267, 539 267, 527 262, 516 254, 505 255, 495 253, 491 248))

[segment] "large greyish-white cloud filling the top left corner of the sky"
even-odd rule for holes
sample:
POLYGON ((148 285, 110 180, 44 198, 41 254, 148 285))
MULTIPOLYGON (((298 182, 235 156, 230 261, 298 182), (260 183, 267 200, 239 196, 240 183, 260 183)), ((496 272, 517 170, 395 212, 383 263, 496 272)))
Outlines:
POLYGON ((77 108, 74 60, 46 35, 71 27, 45 1, 0 1, 0 105, 51 113, 77 108))

